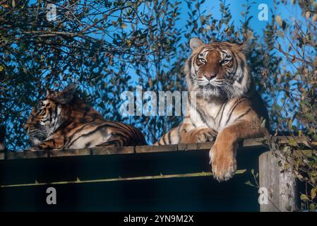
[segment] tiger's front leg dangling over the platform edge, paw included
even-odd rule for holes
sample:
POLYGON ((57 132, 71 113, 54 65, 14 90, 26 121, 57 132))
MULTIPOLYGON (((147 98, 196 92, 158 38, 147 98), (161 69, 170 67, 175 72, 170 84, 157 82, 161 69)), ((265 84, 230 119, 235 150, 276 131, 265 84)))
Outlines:
POLYGON ((222 129, 209 153, 215 179, 221 182, 233 177, 237 170, 236 152, 239 141, 264 134, 265 129, 258 120, 239 121, 222 129))

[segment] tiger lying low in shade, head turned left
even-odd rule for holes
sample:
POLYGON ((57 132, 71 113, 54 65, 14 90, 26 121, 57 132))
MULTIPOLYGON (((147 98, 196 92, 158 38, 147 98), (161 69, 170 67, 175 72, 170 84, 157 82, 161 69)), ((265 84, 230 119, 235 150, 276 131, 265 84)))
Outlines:
POLYGON ((75 91, 74 84, 61 92, 48 90, 47 96, 37 102, 24 126, 33 145, 29 150, 146 144, 138 129, 105 121, 75 91))

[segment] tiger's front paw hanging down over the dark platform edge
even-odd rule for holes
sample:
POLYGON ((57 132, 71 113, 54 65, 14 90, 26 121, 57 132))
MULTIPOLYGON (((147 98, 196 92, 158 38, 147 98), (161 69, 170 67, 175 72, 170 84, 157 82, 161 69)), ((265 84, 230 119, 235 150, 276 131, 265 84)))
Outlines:
POLYGON ((213 177, 217 181, 227 181, 234 176, 237 170, 237 147, 225 142, 216 143, 210 149, 209 157, 213 170, 213 177))

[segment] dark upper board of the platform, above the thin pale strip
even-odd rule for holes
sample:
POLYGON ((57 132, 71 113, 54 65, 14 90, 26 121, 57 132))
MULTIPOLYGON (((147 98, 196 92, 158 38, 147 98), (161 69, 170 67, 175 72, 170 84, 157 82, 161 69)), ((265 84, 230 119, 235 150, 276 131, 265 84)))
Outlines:
MULTIPOLYGON (((105 149, 102 149, 104 151, 105 149)), ((0 161, 1 185, 80 180, 148 177, 166 174, 210 172, 209 148, 203 150, 83 155, 0 161)), ((237 155, 238 169, 258 169, 258 156, 267 149, 253 148, 237 155)), ((251 180, 251 179, 250 179, 251 180)), ((244 182, 242 182, 244 183, 244 182)))

